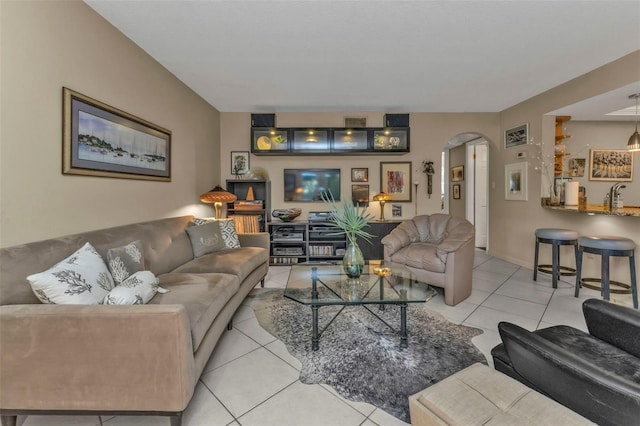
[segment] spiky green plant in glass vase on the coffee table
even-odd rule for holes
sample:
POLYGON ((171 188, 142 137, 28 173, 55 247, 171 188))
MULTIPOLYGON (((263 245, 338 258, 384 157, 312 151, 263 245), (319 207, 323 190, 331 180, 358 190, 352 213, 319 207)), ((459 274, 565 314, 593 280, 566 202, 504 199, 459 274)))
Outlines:
POLYGON ((355 206, 352 202, 337 203, 331 192, 321 194, 322 201, 329 207, 329 221, 340 229, 334 235, 347 236, 347 249, 342 258, 342 267, 349 278, 358 278, 364 269, 364 256, 357 243, 357 237, 371 243, 373 235, 364 230, 373 216, 367 214, 366 207, 355 206))

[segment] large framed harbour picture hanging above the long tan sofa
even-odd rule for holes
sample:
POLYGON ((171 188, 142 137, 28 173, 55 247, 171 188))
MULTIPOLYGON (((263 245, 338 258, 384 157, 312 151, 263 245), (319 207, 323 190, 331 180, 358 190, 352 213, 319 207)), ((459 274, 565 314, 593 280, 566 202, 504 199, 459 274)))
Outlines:
POLYGON ((171 181, 171 132, 66 87, 62 173, 171 181))

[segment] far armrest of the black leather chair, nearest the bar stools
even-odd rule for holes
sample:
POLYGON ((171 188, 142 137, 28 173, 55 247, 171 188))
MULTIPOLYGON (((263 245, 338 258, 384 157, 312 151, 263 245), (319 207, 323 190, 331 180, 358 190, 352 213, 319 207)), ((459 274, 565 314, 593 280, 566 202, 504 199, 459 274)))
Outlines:
POLYGON ((589 334, 640 358, 640 311, 602 299, 582 304, 589 334))

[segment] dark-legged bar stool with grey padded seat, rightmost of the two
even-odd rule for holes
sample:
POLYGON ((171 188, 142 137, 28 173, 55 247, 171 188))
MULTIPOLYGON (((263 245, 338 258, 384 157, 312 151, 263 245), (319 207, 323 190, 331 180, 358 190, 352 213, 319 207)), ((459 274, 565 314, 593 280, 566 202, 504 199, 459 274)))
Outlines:
POLYGON ((633 307, 638 309, 638 286, 636 284, 636 263, 635 263, 636 243, 624 237, 610 235, 586 236, 578 238, 578 255, 576 262, 576 294, 580 294, 580 287, 584 286, 593 290, 600 290, 605 300, 609 300, 609 293, 632 294, 633 307), (602 256, 600 265, 600 278, 582 278, 582 254, 583 252, 599 254, 602 256), (629 269, 631 272, 631 285, 609 279, 609 257, 624 256, 629 257, 629 269), (590 283, 600 283, 593 285, 590 283), (611 288, 616 287, 616 288, 611 288))

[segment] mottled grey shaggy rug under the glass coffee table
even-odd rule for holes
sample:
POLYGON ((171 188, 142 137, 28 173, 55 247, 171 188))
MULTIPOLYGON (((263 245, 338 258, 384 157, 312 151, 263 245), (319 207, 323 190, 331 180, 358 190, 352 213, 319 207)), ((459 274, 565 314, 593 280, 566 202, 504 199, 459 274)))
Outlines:
MULTIPOLYGON (((410 395, 485 357, 471 343, 482 330, 453 324, 429 311, 428 303, 407 308, 408 348, 400 348, 392 331, 362 306, 352 306, 333 321, 311 350, 311 307, 283 297, 281 289, 261 289, 248 297, 260 325, 282 340, 302 363, 300 381, 324 383, 351 400, 373 404, 409 423, 410 395)), ((400 308, 368 305, 396 330, 400 308)), ((322 330, 340 306, 319 309, 322 330)))

